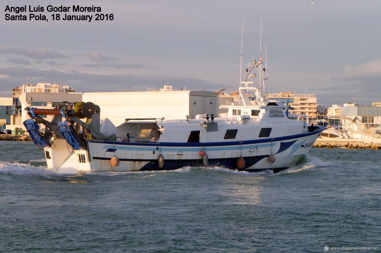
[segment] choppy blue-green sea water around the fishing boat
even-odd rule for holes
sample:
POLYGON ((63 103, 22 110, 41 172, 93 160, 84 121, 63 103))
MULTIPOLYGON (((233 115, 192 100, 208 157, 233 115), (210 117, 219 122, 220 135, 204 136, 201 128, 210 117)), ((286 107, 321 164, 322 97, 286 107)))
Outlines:
POLYGON ((381 252, 381 150, 312 148, 275 174, 75 175, 32 142, 0 150, 0 252, 381 252))

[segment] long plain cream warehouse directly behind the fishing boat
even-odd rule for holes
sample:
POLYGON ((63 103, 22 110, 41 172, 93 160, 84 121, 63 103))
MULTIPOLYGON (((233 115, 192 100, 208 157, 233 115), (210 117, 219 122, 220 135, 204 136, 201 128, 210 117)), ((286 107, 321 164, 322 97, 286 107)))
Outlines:
POLYGON ((84 102, 101 108, 101 117, 115 126, 125 119, 195 119, 197 114, 218 115, 218 94, 207 90, 164 89, 145 92, 85 92, 84 102))

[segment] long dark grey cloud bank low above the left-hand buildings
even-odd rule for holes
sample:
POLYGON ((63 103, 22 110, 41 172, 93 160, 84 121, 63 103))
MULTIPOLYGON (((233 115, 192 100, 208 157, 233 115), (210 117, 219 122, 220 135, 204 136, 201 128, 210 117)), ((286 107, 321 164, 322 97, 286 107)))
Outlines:
POLYGON ((51 82, 69 85, 77 92, 118 92, 118 91, 145 91, 163 87, 166 83, 173 85, 173 89, 192 87, 192 89, 215 90, 221 86, 202 79, 178 76, 142 76, 133 74, 88 74, 78 71, 62 72, 58 70, 38 70, 24 67, 0 68, 7 75, 9 88, 25 83, 51 82), (146 78, 145 78, 146 77, 146 78), (12 86, 11 86, 12 85, 12 86))

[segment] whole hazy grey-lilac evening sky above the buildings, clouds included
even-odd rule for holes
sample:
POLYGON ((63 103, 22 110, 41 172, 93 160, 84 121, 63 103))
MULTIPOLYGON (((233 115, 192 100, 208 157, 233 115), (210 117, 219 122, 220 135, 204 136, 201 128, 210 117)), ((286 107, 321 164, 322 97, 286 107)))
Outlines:
POLYGON ((242 68, 259 54, 267 64, 269 93, 315 94, 325 106, 381 101, 379 0, 2 0, 0 8, 3 96, 37 82, 77 92, 166 84, 231 92, 240 85, 242 45, 242 68), (19 14, 6 10, 24 5, 19 14), (29 5, 44 11, 29 12, 29 5), (49 5, 70 12, 49 12, 49 5), (101 12, 74 13, 73 5, 101 12), (97 13, 113 19, 96 21, 97 13), (93 18, 64 21, 65 14, 93 18))

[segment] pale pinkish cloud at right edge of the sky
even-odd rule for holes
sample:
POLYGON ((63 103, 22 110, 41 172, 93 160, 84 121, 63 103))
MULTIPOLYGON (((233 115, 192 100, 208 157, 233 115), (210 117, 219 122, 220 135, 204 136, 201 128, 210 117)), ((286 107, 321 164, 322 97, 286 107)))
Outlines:
POLYGON ((334 81, 376 81, 381 79, 381 59, 360 65, 345 65, 344 73, 331 77, 334 81))

